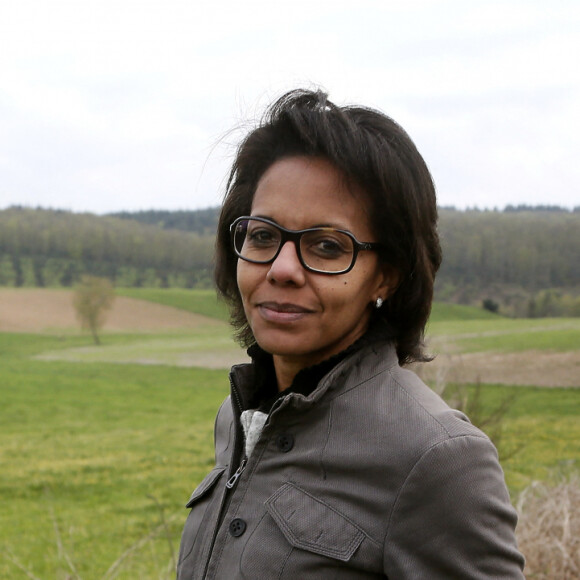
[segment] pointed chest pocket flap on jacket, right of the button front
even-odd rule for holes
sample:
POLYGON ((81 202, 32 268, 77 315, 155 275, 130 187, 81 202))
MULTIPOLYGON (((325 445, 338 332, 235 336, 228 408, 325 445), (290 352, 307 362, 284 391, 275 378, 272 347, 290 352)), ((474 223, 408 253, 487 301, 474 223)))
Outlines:
POLYGON ((266 509, 295 548, 348 562, 366 534, 345 515, 294 483, 266 500, 266 509))

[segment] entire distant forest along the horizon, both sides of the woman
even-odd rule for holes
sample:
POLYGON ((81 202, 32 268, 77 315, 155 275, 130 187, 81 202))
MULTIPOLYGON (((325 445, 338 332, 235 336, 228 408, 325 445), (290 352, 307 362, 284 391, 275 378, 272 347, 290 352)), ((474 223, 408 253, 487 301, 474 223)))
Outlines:
MULTIPOLYGON (((0 211, 0 286, 211 286, 219 208, 106 216, 0 211)), ((436 299, 510 316, 580 316, 580 208, 440 209, 436 299)))

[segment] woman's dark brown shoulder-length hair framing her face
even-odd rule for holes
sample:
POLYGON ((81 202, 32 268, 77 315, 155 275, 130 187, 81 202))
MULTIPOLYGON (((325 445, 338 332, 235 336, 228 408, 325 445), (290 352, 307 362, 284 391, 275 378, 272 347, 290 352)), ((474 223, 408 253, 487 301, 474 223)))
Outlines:
MULTIPOLYGON (((387 323, 401 364, 429 360, 425 324, 441 263, 435 187, 425 161, 407 133, 383 113, 338 107, 321 91, 294 90, 266 111, 239 145, 218 223, 215 281, 230 307, 238 341, 255 342, 236 281, 237 257, 230 224, 251 213, 260 178, 276 161, 293 156, 330 161, 366 194, 381 260, 398 273, 396 290, 375 316, 387 323)), ((354 191, 354 190, 353 190, 354 191)))

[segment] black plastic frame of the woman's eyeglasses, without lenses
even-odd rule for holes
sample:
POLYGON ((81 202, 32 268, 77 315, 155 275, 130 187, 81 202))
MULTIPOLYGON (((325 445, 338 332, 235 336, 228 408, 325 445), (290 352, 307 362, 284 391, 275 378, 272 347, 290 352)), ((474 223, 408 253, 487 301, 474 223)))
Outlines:
POLYGON ((340 230, 338 228, 332 227, 307 228, 305 230, 289 230, 287 228, 283 228, 281 225, 277 224, 276 222, 273 222, 272 220, 257 216, 240 216, 239 218, 236 218, 230 224, 230 237, 232 241, 232 247, 234 249, 236 256, 238 256, 238 258, 241 258, 245 262, 251 262, 252 264, 271 264, 280 255, 280 252, 282 251, 282 248, 284 247, 286 242, 293 242, 294 247, 296 248, 296 255, 298 256, 298 260, 300 260, 300 264, 302 264, 302 267, 305 270, 307 270, 308 272, 313 272, 315 274, 327 274, 329 276, 336 276, 338 274, 346 274, 347 272, 350 272, 354 268, 354 265, 356 264, 356 259, 358 257, 359 252, 365 250, 378 250, 382 246, 382 244, 378 242, 360 242, 359 240, 356 239, 355 235, 349 232, 348 230, 340 230), (268 224, 269 226, 273 226, 274 228, 280 231, 281 233, 280 245, 278 246, 276 253, 269 260, 252 260, 251 258, 246 258, 245 256, 242 256, 240 252, 238 252, 238 249, 236 248, 236 239, 235 239, 236 227, 240 222, 244 220, 254 220, 262 222, 268 224), (307 234, 310 232, 322 232, 328 230, 344 234, 352 240, 353 252, 351 263, 348 268, 345 268, 343 270, 337 270, 336 272, 328 272, 327 270, 318 270, 316 268, 313 268, 312 266, 306 264, 306 262, 304 261, 304 258, 302 257, 302 251, 300 250, 300 240, 303 234, 307 234))

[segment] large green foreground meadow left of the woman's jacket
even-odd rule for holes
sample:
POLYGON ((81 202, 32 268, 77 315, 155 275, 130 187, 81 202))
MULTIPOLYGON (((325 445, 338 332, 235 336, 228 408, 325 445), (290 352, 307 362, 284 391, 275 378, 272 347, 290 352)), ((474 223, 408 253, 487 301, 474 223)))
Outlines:
POLYGON ((63 341, 0 339, 0 578, 171 577, 226 373, 35 362, 63 341))

